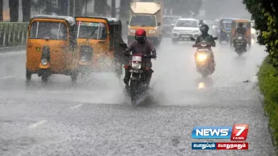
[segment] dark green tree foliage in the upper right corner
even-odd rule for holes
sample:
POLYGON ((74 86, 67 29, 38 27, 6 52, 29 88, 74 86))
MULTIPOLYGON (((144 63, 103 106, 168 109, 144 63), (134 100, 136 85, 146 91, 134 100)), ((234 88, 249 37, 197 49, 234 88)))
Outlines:
POLYGON ((276 0, 243 0, 252 14, 255 28, 259 31, 258 42, 266 46, 270 62, 278 67, 278 2, 276 0))

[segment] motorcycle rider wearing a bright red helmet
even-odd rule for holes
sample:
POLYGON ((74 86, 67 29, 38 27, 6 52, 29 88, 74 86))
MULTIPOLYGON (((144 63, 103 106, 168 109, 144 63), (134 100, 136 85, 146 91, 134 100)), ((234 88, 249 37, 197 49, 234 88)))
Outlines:
MULTIPOLYGON (((156 58, 156 49, 154 44, 147 40, 146 37, 147 33, 144 29, 140 28, 135 33, 135 40, 131 42, 128 46, 128 49, 124 51, 123 55, 130 55, 131 51, 133 54, 135 53, 144 53, 144 55, 151 55, 151 58, 156 58)), ((152 62, 151 58, 145 58, 145 67, 148 67, 149 70, 145 70, 145 76, 147 79, 147 85, 149 85, 151 78, 152 78, 152 62)), ((128 67, 125 68, 125 76, 124 76, 124 83, 126 84, 126 88, 129 87, 129 78, 131 77, 131 73, 129 69, 131 69, 131 64, 127 65, 128 67)))

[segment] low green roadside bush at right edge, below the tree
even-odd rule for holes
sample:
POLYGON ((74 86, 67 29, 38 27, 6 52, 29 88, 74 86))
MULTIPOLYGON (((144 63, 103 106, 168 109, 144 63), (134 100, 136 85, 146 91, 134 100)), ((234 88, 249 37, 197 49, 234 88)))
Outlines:
POLYGON ((278 69, 270 64, 266 57, 258 72, 259 87, 264 96, 265 111, 269 116, 273 137, 278 142, 278 69))

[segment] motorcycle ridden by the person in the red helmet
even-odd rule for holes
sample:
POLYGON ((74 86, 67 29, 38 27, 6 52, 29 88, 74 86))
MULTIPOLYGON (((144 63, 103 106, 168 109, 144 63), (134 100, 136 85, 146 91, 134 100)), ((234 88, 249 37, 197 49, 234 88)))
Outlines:
MULTIPOLYGON (((126 47, 126 44, 120 44, 120 46, 126 47)), ((147 95, 149 91, 149 82, 147 81, 145 73, 153 71, 152 69, 145 67, 145 59, 152 58, 152 55, 136 53, 133 55, 123 56, 131 56, 131 67, 129 69, 129 72, 131 73, 131 78, 129 78, 128 94, 131 97, 131 103, 133 103, 133 105, 138 105, 138 100, 142 96, 147 95)))

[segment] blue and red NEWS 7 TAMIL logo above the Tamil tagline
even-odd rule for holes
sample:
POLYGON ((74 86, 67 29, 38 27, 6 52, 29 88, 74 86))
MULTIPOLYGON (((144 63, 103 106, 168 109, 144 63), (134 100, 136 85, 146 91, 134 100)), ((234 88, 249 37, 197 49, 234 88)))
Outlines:
POLYGON ((192 131, 193 139, 231 139, 231 141, 245 141, 249 125, 233 125, 233 127, 195 127, 192 131))

